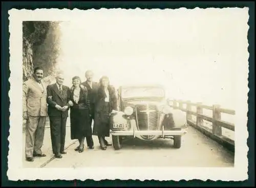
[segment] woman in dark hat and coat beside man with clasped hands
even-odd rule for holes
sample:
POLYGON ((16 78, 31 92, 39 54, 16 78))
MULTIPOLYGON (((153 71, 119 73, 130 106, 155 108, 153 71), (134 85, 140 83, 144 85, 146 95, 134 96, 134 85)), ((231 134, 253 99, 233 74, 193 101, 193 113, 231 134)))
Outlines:
POLYGON ((75 151, 79 153, 84 149, 84 138, 91 136, 90 103, 87 88, 81 85, 78 76, 72 79, 73 86, 70 89, 70 97, 73 105, 70 107, 71 139, 78 139, 79 146, 75 151))

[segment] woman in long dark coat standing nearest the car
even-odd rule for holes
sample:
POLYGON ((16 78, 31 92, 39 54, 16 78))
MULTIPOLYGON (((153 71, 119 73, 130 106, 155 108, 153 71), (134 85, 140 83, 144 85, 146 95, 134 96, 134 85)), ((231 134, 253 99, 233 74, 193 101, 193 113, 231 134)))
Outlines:
POLYGON ((95 106, 93 135, 99 138, 100 147, 106 150, 105 137, 110 136, 110 113, 117 110, 115 88, 110 85, 109 78, 101 77, 95 106))

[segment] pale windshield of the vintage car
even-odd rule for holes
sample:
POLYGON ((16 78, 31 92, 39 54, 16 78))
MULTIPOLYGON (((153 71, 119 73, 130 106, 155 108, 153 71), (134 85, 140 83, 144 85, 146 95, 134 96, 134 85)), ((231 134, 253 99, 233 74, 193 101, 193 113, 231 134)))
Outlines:
POLYGON ((164 90, 160 87, 122 88, 122 98, 134 97, 164 97, 164 90))

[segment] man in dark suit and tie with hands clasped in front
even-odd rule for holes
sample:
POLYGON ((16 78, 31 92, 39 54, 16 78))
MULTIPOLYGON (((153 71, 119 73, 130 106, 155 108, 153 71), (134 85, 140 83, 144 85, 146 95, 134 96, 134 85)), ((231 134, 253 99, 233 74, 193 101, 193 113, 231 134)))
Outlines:
POLYGON ((58 73, 56 83, 47 86, 48 115, 52 139, 52 150, 56 158, 65 152, 66 123, 70 107, 70 89, 62 85, 63 74, 58 73))

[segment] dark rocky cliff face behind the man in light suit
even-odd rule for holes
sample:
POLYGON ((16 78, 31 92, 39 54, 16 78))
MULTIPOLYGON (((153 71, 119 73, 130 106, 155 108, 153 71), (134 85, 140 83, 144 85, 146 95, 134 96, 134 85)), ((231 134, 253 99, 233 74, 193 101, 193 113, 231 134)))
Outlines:
POLYGON ((23 22, 23 81, 32 77, 36 66, 44 68, 44 80, 51 80, 59 54, 59 37, 59 22, 23 22))

